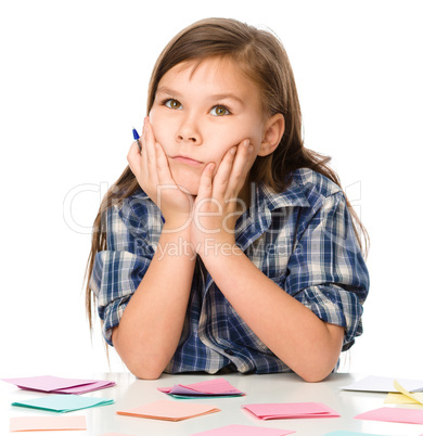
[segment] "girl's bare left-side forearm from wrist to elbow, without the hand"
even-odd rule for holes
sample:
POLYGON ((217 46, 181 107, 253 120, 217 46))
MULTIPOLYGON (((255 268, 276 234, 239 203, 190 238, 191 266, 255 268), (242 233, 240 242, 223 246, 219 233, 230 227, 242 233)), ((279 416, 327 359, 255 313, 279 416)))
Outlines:
POLYGON ((162 233, 149 270, 128 303, 112 341, 128 369, 140 379, 157 379, 181 336, 195 266, 187 230, 162 233), (174 245, 175 244, 175 245, 174 245))

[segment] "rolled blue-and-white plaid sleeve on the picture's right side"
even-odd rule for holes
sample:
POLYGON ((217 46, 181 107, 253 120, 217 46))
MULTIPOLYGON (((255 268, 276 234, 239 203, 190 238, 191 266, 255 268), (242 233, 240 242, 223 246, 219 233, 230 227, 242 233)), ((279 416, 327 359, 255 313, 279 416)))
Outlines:
POLYGON ((289 261, 284 290, 321 320, 344 326, 347 350, 362 333, 369 272, 344 194, 332 194, 309 211, 289 261))

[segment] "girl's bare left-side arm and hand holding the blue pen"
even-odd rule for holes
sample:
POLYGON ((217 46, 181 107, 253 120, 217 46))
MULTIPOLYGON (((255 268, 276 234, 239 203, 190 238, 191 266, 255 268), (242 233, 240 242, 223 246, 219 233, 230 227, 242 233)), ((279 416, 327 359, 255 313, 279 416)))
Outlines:
POLYGON ((128 303, 113 345, 140 379, 157 379, 178 346, 191 291, 196 254, 190 240, 192 198, 175 184, 166 155, 150 124, 134 142, 128 162, 139 184, 158 206, 165 226, 157 249, 128 303))

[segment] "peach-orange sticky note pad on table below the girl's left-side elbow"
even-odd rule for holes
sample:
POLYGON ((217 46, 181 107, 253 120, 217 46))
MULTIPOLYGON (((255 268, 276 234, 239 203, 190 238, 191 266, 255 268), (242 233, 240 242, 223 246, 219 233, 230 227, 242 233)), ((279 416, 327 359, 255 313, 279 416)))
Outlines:
POLYGON ((158 400, 133 409, 119 410, 116 413, 152 420, 182 421, 215 412, 220 412, 215 406, 158 400))

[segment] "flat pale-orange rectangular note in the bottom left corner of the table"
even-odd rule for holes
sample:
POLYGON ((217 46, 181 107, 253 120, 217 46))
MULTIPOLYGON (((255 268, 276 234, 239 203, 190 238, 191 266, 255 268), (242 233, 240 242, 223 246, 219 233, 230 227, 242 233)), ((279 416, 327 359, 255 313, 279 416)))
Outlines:
POLYGON ((50 429, 87 429, 86 416, 15 416, 10 419, 11 432, 50 429))

